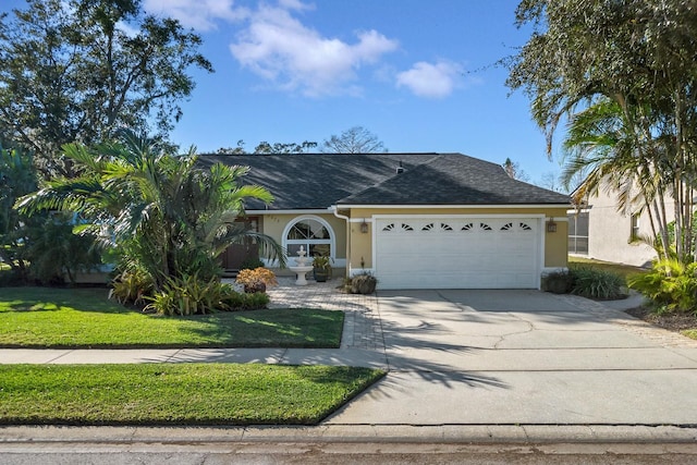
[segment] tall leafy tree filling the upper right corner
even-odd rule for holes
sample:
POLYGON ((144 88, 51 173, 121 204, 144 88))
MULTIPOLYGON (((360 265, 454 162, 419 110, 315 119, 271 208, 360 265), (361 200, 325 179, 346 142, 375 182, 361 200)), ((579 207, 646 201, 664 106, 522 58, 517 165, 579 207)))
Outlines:
POLYGON ((601 136, 603 125, 606 136, 621 133, 620 145, 612 137, 592 144, 579 137, 584 149, 573 163, 580 167, 578 157, 585 157, 591 161, 586 167, 603 166, 604 180, 623 180, 614 184, 620 192, 638 189, 635 208, 651 209, 655 217, 664 210, 667 198, 674 200, 672 246, 681 260, 692 260, 697 187, 694 2, 524 0, 516 17, 521 25, 533 24, 535 32, 512 58, 508 84, 530 97, 533 117, 548 137, 548 151, 564 117, 578 127, 585 125, 578 118, 595 121, 596 130, 586 135, 601 136), (586 110, 590 111, 583 114, 586 110), (613 159, 621 158, 606 163, 608 149, 614 151, 613 159), (594 157, 599 163, 592 162, 594 157))

